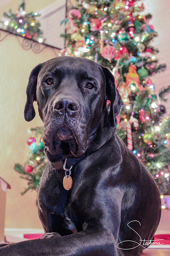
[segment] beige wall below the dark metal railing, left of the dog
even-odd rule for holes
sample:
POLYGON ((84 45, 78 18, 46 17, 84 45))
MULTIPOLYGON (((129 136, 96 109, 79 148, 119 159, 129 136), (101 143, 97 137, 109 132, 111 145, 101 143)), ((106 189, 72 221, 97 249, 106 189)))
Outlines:
POLYGON ((28 129, 42 125, 37 106, 33 121, 24 119, 29 74, 37 64, 54 57, 50 47, 38 54, 22 49, 14 35, 0 42, 0 176, 11 185, 7 190, 5 228, 42 228, 35 206, 36 192, 20 195, 26 181, 19 178, 13 167, 26 161, 28 129))

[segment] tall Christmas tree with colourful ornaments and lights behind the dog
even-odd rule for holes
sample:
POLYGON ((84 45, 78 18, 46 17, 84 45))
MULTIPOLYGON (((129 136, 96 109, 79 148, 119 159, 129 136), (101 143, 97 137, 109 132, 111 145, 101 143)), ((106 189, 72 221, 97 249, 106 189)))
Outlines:
MULTIPOLYGON (((166 109, 160 101, 166 101, 170 86, 155 95, 151 77, 164 71, 166 65, 159 64, 155 57, 159 51, 151 45, 158 36, 149 24, 152 15, 141 15, 144 5, 138 6, 137 2, 87 0, 73 6, 61 22, 66 24, 67 32, 62 36, 67 46, 59 56, 85 57, 112 71, 124 102, 116 133, 151 172, 160 193, 167 195, 170 194, 170 119, 164 118, 166 109)), ((42 174, 39 170, 46 161, 42 151, 32 152, 24 166, 15 166, 28 180, 26 190, 38 189, 42 174), (42 154, 40 162, 36 160, 37 154, 42 154), (26 165, 33 167, 29 174, 26 165)))

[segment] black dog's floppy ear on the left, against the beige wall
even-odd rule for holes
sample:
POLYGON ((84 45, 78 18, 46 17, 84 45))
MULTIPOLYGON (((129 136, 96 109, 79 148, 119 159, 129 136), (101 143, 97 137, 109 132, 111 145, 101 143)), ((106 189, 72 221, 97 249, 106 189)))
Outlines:
POLYGON ((33 102, 37 100, 36 89, 37 89, 37 77, 44 63, 37 65, 31 72, 29 76, 28 85, 26 88, 26 105, 24 109, 24 117, 26 121, 31 121, 35 117, 35 110, 33 107, 33 102))

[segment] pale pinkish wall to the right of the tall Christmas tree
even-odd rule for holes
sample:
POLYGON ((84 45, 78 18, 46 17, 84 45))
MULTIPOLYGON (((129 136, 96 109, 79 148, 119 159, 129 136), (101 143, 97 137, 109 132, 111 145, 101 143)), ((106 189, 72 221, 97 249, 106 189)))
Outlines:
MULTIPOLYGON (((155 84, 155 91, 159 93, 161 88, 167 87, 170 84, 170 1, 169 0, 144 0, 145 11, 144 14, 150 12, 152 20, 150 24, 153 25, 155 31, 158 32, 158 37, 154 39, 152 45, 158 48, 159 53, 156 55, 159 63, 166 63, 166 71, 156 74, 152 77, 155 84)), ((140 4, 139 4, 140 5, 140 4)), ((167 102, 162 102, 166 107, 166 116, 170 115, 170 93, 166 96, 167 102)))

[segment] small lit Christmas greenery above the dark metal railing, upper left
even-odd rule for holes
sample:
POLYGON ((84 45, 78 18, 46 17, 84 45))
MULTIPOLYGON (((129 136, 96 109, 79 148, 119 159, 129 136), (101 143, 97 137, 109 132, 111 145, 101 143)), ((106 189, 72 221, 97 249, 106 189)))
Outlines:
POLYGON ((39 41, 44 41, 40 23, 36 21, 36 17, 40 16, 37 12, 26 13, 25 1, 19 5, 18 10, 13 13, 11 9, 9 13, 4 12, 4 19, 0 21, 0 28, 11 33, 39 41))

